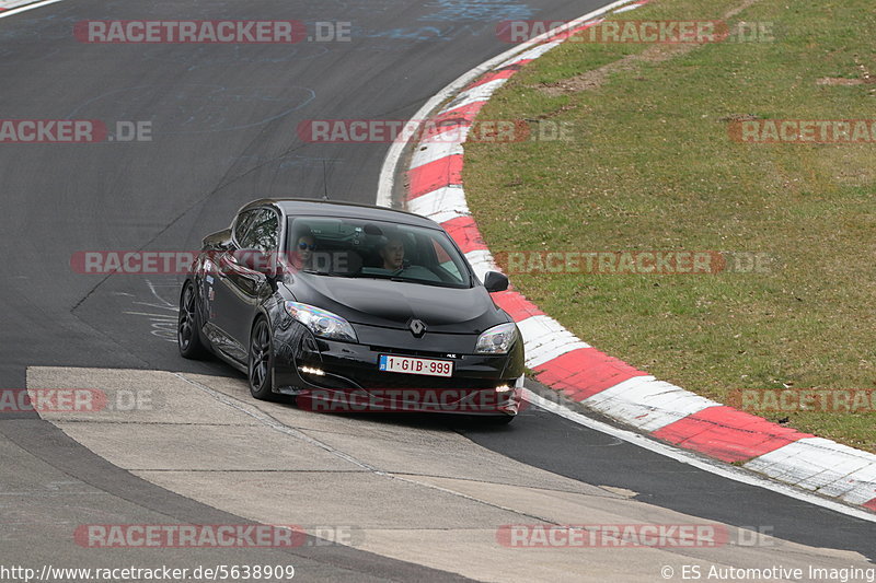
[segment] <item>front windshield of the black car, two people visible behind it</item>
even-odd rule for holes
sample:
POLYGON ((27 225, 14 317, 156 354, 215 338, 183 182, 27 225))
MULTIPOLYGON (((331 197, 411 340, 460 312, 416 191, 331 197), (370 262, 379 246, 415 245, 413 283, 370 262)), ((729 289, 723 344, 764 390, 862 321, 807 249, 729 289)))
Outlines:
POLYGON ((298 217, 289 220, 292 265, 328 277, 391 279, 471 288, 465 261, 438 229, 367 219, 298 217))

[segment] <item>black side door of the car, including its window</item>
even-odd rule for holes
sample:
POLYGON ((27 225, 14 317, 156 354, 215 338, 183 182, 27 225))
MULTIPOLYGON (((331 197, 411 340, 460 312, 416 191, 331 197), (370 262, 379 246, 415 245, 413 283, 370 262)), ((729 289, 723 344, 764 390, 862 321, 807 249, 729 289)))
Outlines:
POLYGON ((277 250, 279 217, 269 208, 253 209, 252 214, 239 218, 240 230, 234 230, 232 247, 218 258, 218 277, 212 311, 214 324, 227 340, 222 350, 240 362, 246 361, 250 327, 260 301, 269 289, 262 273, 240 265, 234 258, 237 249, 277 250))

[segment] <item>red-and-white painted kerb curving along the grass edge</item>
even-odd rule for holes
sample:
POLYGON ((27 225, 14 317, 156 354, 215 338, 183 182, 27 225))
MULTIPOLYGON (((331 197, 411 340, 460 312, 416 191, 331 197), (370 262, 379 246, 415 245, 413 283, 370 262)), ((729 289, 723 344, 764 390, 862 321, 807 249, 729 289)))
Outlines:
MULTIPOLYGON (((564 27, 583 30, 612 11, 629 11, 649 0, 621 0, 564 27)), ((567 36, 567 35, 566 35, 567 36)), ((464 136, 493 93, 523 65, 560 45, 542 35, 489 59, 430 98, 412 119, 452 115, 464 136), (440 108, 439 108, 440 107, 440 108)), ((462 185, 462 143, 448 148, 435 136, 420 137, 407 164, 405 207, 441 224, 480 278, 500 271, 481 237, 462 185)), ((380 173, 377 203, 392 206, 395 175, 405 148, 393 143, 380 173)), ((517 322, 527 365, 535 380, 585 407, 632 425, 676 447, 741 465, 770 478, 876 512, 876 455, 770 422, 727 407, 612 358, 575 337, 522 294, 493 294, 517 322)))

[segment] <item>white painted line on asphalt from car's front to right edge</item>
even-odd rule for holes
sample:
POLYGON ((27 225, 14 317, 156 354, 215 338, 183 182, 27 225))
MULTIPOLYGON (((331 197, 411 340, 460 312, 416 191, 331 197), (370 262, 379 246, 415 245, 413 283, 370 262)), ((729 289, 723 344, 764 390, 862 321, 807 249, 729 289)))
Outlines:
POLYGON ((601 421, 590 419, 562 405, 552 403, 545 399, 544 397, 541 397, 540 395, 532 393, 528 388, 523 389, 523 398, 527 399, 532 405, 535 405, 537 407, 540 407, 545 411, 557 415, 563 419, 567 419, 574 423, 578 423, 579 425, 584 425, 595 431, 599 431, 600 433, 611 435, 612 438, 625 441, 626 443, 637 445, 638 447, 648 450, 649 452, 664 455, 666 457, 675 459, 676 462, 693 466, 698 469, 708 471, 710 474, 715 474, 716 476, 721 476, 722 478, 727 478, 734 481, 738 481, 740 483, 746 483, 748 486, 756 486, 758 488, 763 488, 764 490, 770 490, 771 492, 776 492, 786 495, 788 498, 794 498, 795 500, 802 500, 804 502, 808 502, 809 504, 815 504, 817 506, 839 512, 840 514, 845 514, 848 516, 861 518, 862 521, 876 523, 876 514, 872 514, 865 510, 858 510, 855 508, 846 506, 845 504, 842 504, 840 502, 834 502, 833 500, 827 500, 825 498, 821 498, 820 495, 815 495, 808 492, 804 492, 802 490, 797 490, 793 486, 786 486, 784 483, 777 483, 772 480, 761 478, 750 473, 749 470, 737 469, 736 467, 730 465, 712 462, 703 457, 700 457, 696 454, 690 453, 688 451, 677 450, 671 445, 665 445, 660 442, 650 440, 639 433, 634 433, 625 429, 619 429, 609 425, 608 423, 602 423, 601 421))

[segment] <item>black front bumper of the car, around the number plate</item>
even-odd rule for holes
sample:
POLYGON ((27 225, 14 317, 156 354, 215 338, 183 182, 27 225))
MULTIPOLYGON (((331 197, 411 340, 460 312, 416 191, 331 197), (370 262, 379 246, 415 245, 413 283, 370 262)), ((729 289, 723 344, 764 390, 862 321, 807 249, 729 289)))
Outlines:
MULTIPOLYGON (((367 335, 360 334, 360 339, 361 336, 367 335)), ((468 335, 459 335, 456 341, 419 341, 405 330, 381 329, 380 336, 371 334, 369 339, 378 340, 378 345, 316 338, 304 326, 292 323, 275 337, 276 390, 304 397, 299 403, 310 403, 314 410, 465 415, 519 411, 525 372, 520 340, 508 354, 492 355, 452 351, 454 347, 473 345, 468 335), (443 350, 428 350, 436 348, 443 350), (380 371, 381 354, 449 360, 453 362, 453 373, 442 377, 380 371)))

